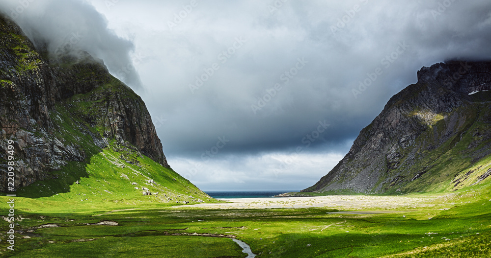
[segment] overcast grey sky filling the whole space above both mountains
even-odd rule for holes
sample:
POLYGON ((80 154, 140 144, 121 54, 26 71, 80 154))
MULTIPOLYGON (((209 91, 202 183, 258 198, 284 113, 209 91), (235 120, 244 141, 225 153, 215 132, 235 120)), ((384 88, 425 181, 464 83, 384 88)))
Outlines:
POLYGON ((21 2, 0 7, 103 59, 203 190, 310 187, 421 67, 491 57, 489 0, 21 2))

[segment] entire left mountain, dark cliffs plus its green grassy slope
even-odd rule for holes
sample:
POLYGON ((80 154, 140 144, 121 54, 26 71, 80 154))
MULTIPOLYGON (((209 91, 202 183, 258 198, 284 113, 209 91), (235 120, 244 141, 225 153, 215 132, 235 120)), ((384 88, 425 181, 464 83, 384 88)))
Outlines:
POLYGON ((18 196, 71 188, 115 199, 143 196, 143 190, 163 193, 156 196, 162 202, 209 198, 169 167, 142 99, 101 60, 77 55, 50 59, 15 23, 0 18, 0 192, 11 191, 13 140, 18 196))

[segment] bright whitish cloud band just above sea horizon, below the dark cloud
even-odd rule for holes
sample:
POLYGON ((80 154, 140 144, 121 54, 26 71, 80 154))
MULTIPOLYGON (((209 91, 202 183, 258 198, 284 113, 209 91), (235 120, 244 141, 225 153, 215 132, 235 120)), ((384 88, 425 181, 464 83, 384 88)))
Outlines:
POLYGON ((296 190, 310 187, 331 169, 342 155, 263 153, 225 155, 208 162, 173 159, 173 169, 205 191, 213 190, 296 190), (199 167, 194 170, 194 167, 199 167), (295 178, 295 180, 292 180, 295 178))

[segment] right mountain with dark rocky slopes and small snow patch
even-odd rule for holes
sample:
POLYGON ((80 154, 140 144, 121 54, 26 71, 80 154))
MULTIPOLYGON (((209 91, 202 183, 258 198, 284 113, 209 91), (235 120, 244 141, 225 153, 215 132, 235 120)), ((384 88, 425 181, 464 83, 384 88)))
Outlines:
POLYGON ((453 191, 491 175, 491 62, 422 68, 361 130, 349 153, 302 192, 453 191))

